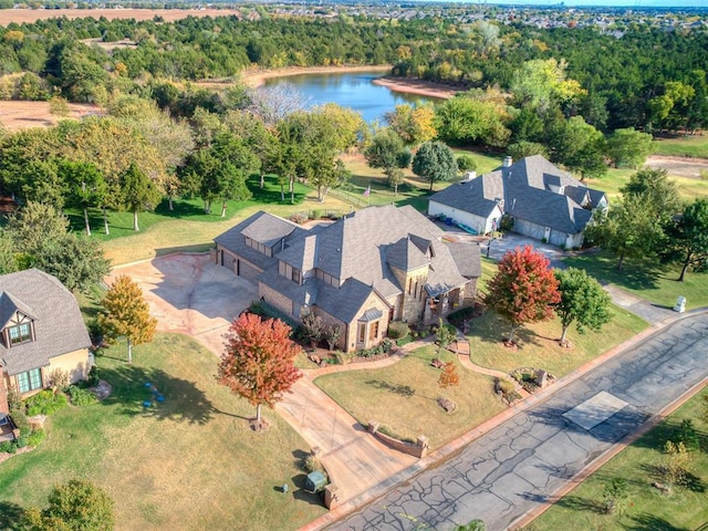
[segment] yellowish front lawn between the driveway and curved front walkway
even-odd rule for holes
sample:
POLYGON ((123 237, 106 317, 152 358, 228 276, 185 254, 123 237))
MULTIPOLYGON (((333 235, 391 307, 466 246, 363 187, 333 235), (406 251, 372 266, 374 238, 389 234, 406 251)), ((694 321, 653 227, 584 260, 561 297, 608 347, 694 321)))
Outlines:
POLYGON ((371 420, 395 434, 415 440, 425 435, 437 448, 504 409, 490 378, 462 368, 445 353, 445 361, 457 366, 460 385, 441 389, 440 369, 431 367, 434 347, 418 348, 395 365, 381 369, 351 371, 315 379, 322 391, 366 425, 371 420), (436 399, 446 396, 457 403, 448 415, 436 399))

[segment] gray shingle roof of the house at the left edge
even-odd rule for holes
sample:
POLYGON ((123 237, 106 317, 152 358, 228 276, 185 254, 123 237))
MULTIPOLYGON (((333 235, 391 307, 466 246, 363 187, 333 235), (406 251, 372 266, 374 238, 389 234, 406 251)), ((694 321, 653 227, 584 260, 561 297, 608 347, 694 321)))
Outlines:
POLYGON ((34 341, 10 348, 0 342, 0 363, 9 375, 46 366, 52 357, 91 346, 76 299, 54 277, 37 269, 4 274, 0 291, 10 295, 3 298, 2 312, 12 300, 34 320, 34 341))

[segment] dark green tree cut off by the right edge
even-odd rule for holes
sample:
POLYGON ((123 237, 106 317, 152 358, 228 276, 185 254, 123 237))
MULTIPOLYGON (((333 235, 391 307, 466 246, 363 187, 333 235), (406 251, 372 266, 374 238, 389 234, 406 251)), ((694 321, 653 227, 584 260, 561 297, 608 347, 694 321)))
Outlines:
POLYGON ((664 257, 681 264, 678 281, 683 282, 689 268, 708 269, 708 200, 696 199, 667 228, 664 257))

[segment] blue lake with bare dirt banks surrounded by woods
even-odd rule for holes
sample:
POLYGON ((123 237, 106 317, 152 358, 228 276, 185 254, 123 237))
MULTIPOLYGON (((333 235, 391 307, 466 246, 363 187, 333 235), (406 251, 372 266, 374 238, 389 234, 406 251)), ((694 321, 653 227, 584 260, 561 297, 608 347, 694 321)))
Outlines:
POLYGON ((302 94, 306 107, 336 103, 358 111, 368 123, 376 119, 383 123, 384 114, 393 111, 396 105, 438 101, 418 94, 393 92, 385 86, 372 83, 382 75, 382 72, 300 74, 271 77, 266 80, 262 86, 271 88, 290 85, 302 94))

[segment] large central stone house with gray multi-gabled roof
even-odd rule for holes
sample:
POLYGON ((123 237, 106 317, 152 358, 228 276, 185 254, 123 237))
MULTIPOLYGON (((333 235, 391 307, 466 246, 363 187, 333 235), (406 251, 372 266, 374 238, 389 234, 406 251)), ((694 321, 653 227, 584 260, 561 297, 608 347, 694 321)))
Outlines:
POLYGON ((369 207, 306 230, 260 211, 216 238, 217 262, 258 283, 264 302, 342 329, 343 351, 383 340, 391 321, 436 323, 469 303, 479 247, 447 243, 413 207, 369 207))

